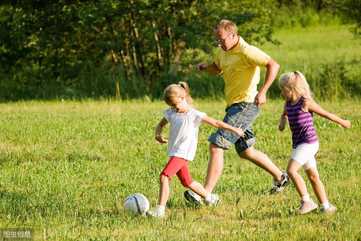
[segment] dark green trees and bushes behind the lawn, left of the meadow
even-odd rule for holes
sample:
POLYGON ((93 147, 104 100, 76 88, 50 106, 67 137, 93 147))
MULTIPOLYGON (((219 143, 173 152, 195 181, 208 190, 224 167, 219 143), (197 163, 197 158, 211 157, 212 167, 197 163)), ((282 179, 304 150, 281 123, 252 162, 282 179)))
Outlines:
MULTIPOLYGON (((274 9, 292 4, 325 9, 315 3, 328 2, 2 2, 0 100, 157 98, 164 86, 187 78, 194 63, 212 54, 212 29, 220 19, 234 21, 249 43, 260 44, 274 41, 274 9)), ((332 1, 331 8, 340 2, 332 1)))

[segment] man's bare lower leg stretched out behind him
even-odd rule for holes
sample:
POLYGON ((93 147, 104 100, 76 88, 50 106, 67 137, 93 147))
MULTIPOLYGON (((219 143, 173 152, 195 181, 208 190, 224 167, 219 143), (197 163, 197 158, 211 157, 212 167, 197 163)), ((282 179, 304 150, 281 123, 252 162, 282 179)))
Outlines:
POLYGON ((238 155, 240 158, 249 160, 258 167, 264 169, 266 172, 270 173, 276 181, 280 181, 282 179, 282 172, 262 151, 258 151, 251 146, 247 150, 238 153, 238 155))

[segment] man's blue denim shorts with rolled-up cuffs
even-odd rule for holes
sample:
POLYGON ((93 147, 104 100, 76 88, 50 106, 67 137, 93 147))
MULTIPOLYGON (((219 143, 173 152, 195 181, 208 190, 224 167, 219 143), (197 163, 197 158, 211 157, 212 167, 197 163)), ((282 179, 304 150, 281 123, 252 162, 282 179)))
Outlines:
POLYGON ((244 137, 239 137, 230 130, 218 129, 212 133, 208 141, 224 149, 230 149, 234 144, 236 152, 242 152, 256 144, 256 137, 253 135, 252 123, 256 120, 260 108, 251 102, 240 102, 226 108, 226 116, 223 122, 238 128, 240 125, 244 137))

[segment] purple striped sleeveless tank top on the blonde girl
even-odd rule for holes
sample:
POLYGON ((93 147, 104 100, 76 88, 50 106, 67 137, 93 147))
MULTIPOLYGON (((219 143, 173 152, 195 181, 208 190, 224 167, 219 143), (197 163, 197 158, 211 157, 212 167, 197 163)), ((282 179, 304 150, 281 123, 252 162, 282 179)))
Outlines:
POLYGON ((286 103, 286 112, 288 122, 290 122, 290 129, 292 132, 292 148, 295 149, 298 145, 307 143, 312 144, 318 142, 318 138, 313 127, 313 113, 304 112, 301 109, 303 100, 301 97, 299 102, 291 106, 291 102, 286 103))

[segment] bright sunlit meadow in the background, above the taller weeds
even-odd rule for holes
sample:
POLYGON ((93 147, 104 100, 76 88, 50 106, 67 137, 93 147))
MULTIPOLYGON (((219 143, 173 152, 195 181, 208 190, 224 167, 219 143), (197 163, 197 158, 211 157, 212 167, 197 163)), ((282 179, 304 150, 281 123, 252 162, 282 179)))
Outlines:
POLYGON ((280 65, 279 74, 344 60, 360 59, 361 41, 350 32, 351 25, 295 27, 280 29, 274 38, 280 45, 265 43, 258 46, 280 65))

